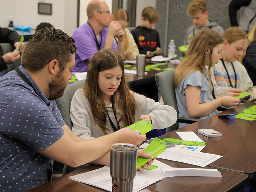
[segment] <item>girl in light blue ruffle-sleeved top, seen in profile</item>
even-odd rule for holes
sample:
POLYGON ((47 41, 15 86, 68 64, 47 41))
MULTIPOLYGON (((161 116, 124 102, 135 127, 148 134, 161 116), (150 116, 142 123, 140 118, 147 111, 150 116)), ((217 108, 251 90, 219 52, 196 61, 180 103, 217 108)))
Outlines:
MULTIPOLYGON (((176 69, 174 86, 180 117, 204 119, 218 114, 220 105, 239 104, 234 94, 215 96, 210 69, 221 58, 224 47, 221 35, 211 29, 199 31, 190 43, 186 58, 176 69), (207 69, 207 67, 208 69, 207 69)), ((186 124, 179 125, 179 128, 186 124)))

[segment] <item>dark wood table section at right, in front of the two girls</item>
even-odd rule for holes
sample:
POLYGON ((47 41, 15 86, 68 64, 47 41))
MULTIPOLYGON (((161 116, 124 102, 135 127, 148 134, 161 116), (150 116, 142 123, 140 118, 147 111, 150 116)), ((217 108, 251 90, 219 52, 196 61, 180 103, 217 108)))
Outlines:
MULTIPOLYGON (((253 100, 255 101, 255 100, 253 100)), ((253 101, 246 102, 221 114, 241 113, 244 108, 256 105, 253 101)), ((256 120, 229 120, 218 118, 218 115, 190 124, 179 130, 160 136, 180 139, 176 131, 193 131, 204 142, 206 147, 201 151, 221 155, 220 159, 209 164, 210 167, 220 168, 249 175, 250 182, 256 180, 256 120), (198 133, 198 129, 211 128, 222 133, 221 137, 206 137, 198 133)))

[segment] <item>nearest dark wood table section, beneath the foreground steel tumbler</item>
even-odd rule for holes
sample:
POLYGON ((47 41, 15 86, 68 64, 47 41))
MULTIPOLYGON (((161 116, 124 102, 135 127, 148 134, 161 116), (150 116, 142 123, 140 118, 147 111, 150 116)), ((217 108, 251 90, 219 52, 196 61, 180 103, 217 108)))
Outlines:
MULTIPOLYGON (((194 165, 159 159, 165 164, 169 164, 172 167, 189 167, 189 168, 201 168, 194 165)), ((47 182, 36 188, 30 189, 27 192, 92 192, 92 191, 105 191, 103 189, 93 187, 84 183, 76 182, 68 179, 68 176, 73 176, 79 173, 84 173, 98 169, 100 165, 88 165, 84 168, 78 169, 60 178, 47 182)), ((210 168, 210 167, 206 167, 210 168)), ((232 172, 227 170, 219 171, 222 177, 169 177, 140 190, 141 192, 238 192, 243 190, 249 184, 248 175, 238 172, 232 172)))

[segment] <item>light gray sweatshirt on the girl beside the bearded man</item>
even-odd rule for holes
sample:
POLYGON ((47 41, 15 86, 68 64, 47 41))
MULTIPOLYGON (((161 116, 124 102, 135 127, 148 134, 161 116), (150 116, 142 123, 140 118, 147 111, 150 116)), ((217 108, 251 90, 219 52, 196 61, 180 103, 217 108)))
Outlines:
MULTIPOLYGON (((172 126, 177 120, 177 112, 168 105, 162 105, 152 99, 146 98, 144 95, 134 93, 136 101, 135 122, 140 121, 141 115, 150 115, 152 125, 155 129, 164 129, 172 126)), ((109 117, 117 127, 117 122, 112 110, 112 105, 107 106, 109 117)), ((121 118, 120 110, 116 109, 117 119, 121 118)), ((73 123, 72 132, 84 140, 94 139, 103 136, 103 132, 98 124, 94 124, 92 109, 89 101, 84 96, 83 90, 79 89, 75 92, 70 106, 70 117, 73 123)), ((124 122, 119 123, 120 128, 124 128, 124 122)), ((114 132, 109 119, 107 117, 106 127, 110 130, 108 133, 114 132)))

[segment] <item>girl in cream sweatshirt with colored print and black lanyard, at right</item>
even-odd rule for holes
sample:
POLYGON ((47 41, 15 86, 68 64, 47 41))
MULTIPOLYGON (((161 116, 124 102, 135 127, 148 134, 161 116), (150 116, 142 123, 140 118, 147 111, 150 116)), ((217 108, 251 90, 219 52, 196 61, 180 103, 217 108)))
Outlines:
MULTIPOLYGON (((228 92, 242 92, 245 85, 253 86, 244 66, 238 61, 248 47, 249 40, 243 29, 231 27, 224 31, 224 49, 221 51, 222 59, 211 69, 212 82, 217 95, 228 92)), ((253 95, 243 98, 252 100, 253 95)))

